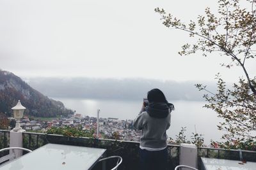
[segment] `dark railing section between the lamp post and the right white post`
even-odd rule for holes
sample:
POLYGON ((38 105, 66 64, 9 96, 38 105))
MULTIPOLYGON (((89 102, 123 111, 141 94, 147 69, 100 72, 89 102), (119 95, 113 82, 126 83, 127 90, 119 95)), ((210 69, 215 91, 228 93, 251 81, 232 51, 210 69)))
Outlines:
MULTIPOLYGON (((57 143, 63 145, 88 146, 95 148, 106 148, 107 155, 119 155, 123 158, 119 169, 140 169, 138 150, 140 143, 136 141, 122 141, 114 139, 76 138, 58 134, 42 134, 23 132, 23 147, 35 150, 46 143, 57 143)), ((179 145, 168 145, 168 169, 174 169, 179 165, 179 145)), ((95 169, 101 169, 95 167, 95 169)))

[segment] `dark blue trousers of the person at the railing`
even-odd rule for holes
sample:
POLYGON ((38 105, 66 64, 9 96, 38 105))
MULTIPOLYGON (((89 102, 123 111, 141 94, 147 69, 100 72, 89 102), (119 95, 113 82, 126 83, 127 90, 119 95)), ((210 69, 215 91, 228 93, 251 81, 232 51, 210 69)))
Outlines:
POLYGON ((167 148, 159 151, 139 150, 141 170, 166 170, 167 148))

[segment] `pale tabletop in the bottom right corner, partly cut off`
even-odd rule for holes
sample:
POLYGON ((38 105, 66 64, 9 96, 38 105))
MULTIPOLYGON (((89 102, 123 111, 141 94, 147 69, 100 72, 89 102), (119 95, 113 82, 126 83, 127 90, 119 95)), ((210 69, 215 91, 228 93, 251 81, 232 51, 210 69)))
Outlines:
POLYGON ((201 158, 205 170, 255 170, 256 162, 243 162, 239 160, 201 158))

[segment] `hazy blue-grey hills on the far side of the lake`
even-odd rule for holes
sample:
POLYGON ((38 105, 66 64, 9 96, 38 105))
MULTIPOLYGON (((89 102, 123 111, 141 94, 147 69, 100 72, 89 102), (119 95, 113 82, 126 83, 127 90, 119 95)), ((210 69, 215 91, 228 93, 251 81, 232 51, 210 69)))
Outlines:
MULTIPOLYGON (((161 89, 167 99, 203 101, 196 81, 160 81, 141 78, 25 78, 26 83, 48 97, 140 100, 151 89, 161 89)), ((214 92, 214 81, 205 81, 214 92)))

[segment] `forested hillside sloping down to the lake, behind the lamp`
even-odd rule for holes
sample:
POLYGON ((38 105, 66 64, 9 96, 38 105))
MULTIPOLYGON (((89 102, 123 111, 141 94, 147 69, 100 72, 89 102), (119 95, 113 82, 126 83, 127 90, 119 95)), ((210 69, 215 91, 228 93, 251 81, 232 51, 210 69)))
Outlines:
POLYGON ((18 100, 26 107, 24 114, 34 117, 67 116, 74 113, 60 101, 54 101, 31 88, 15 74, 0 70, 0 113, 11 116, 11 108, 18 100))

